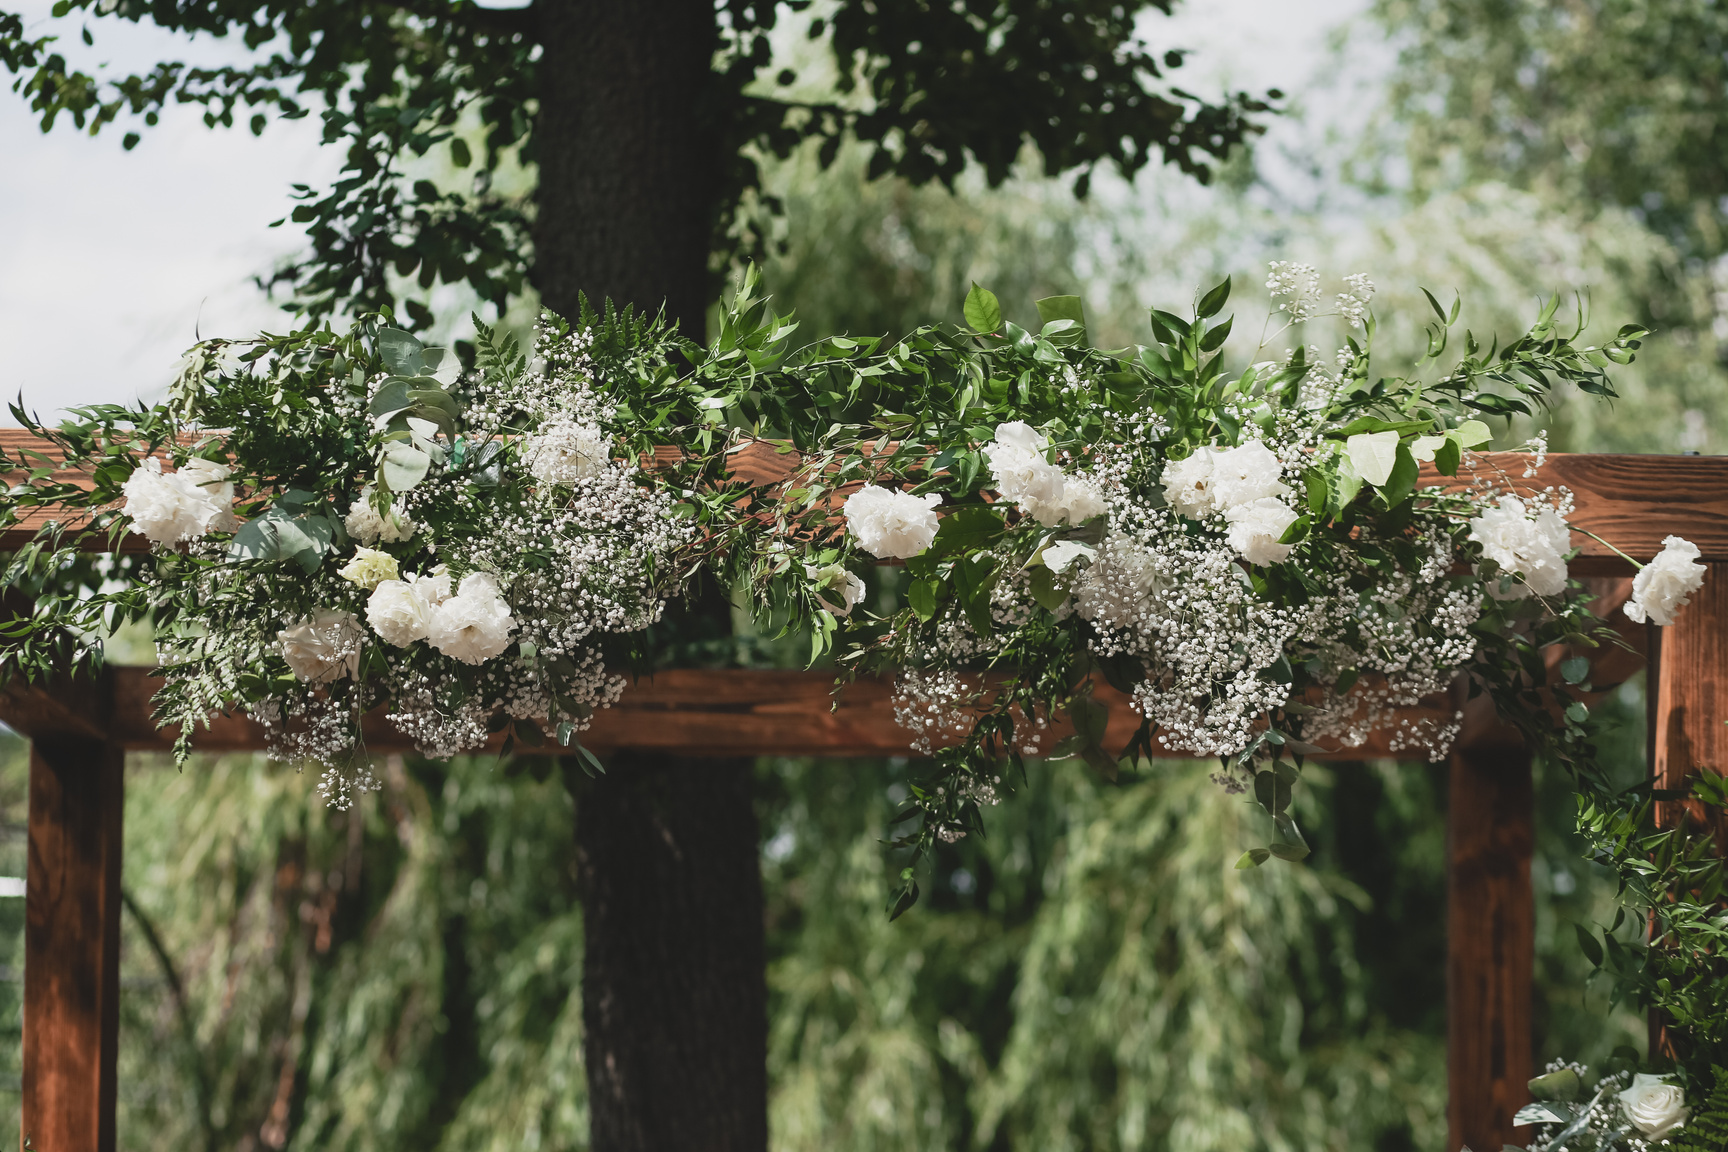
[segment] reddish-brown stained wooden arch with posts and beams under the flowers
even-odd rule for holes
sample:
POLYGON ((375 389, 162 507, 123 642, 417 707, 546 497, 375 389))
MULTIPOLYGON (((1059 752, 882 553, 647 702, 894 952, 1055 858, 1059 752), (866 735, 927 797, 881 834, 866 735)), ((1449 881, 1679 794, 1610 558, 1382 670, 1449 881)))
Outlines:
MULTIPOLYGON (((28 434, 0 430, 0 446, 14 456, 12 449, 28 444, 28 434)), ((785 475, 762 463, 762 480, 785 475)), ((1493 463, 1498 475, 1526 472, 1522 456, 1493 463)), ((748 466, 740 465, 738 472, 748 466)), ((1661 551, 1668 534, 1699 546, 1709 575, 1669 629, 1633 625, 1617 611, 1631 568, 1602 544, 1576 535, 1581 556, 1572 572, 1597 584, 1598 611, 1616 622, 1630 646, 1586 653, 1595 689, 1649 668, 1650 769, 1668 788, 1692 772, 1728 772, 1728 458, 1555 454, 1517 484, 1571 489, 1574 523, 1635 556, 1661 551)), ((24 522, 0 534, 0 551, 26 544, 33 529, 24 522)), ((154 689, 145 668, 109 668, 95 680, 0 693, 0 720, 31 741, 22 1131, 43 1152, 112 1152, 116 1142, 123 767, 128 751, 173 743, 173 732, 150 722, 154 689)), ((584 743, 600 751, 653 748, 683 756, 909 751, 885 682, 850 686, 838 708, 831 708, 829 689, 831 675, 823 672, 662 672, 601 712, 584 743)), ((1121 746, 1137 717, 1106 686, 1097 687, 1097 698, 1116 705, 1106 746, 1121 746)), ((1453 706, 1436 699, 1419 712, 1450 715, 1453 706)), ((366 741, 377 751, 408 751, 382 715, 368 717, 366 741)), ((202 751, 261 750, 263 732, 242 717, 214 717, 194 744, 202 751)), ((1375 732, 1362 748, 1329 758, 1391 755, 1388 734, 1375 732)), ((1496 724, 1486 699, 1472 701, 1450 756, 1448 1152, 1515 1140, 1510 1116, 1528 1100, 1531 820, 1529 755, 1496 724)), ((1229 867, 1227 850, 1220 846, 1220 867, 1229 867)))

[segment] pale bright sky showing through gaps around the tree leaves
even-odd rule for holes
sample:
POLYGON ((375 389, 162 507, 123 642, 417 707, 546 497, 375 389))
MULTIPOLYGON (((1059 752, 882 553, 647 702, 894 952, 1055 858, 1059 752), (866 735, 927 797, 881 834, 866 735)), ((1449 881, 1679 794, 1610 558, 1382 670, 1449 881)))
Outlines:
MULTIPOLYGON (((102 19, 92 22, 97 41, 86 48, 78 22, 52 21, 50 7, 26 0, 26 31, 59 31, 69 41, 62 50, 86 71, 126 74, 157 60, 216 62, 244 52, 102 19)), ((1348 112, 1348 97, 1318 81, 1334 59, 1332 29, 1365 7, 1208 0, 1146 29, 1159 48, 1194 52, 1182 74, 1187 86, 1284 88, 1305 100, 1306 126, 1274 126, 1263 155, 1275 155, 1317 119, 1348 112)), ((24 100, 0 92, 0 397, 10 402, 22 392, 41 416, 69 404, 157 399, 171 364, 200 335, 290 326, 252 276, 302 247, 292 223, 270 228, 292 207, 290 185, 318 187, 339 169, 339 157, 318 145, 316 116, 273 123, 256 138, 245 128, 207 130, 197 109, 171 107, 159 126, 138 126, 143 142, 124 152, 121 136, 131 128, 123 119, 90 136, 62 123, 43 135, 24 100)), ((1286 164, 1286 176, 1296 180, 1298 169, 1286 164)), ((16 420, 5 415, 0 423, 16 420)))

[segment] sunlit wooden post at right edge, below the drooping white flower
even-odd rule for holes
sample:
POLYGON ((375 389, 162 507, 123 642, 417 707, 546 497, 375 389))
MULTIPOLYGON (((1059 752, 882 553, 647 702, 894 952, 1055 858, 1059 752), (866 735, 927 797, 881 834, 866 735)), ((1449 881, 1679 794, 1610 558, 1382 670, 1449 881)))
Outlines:
MULTIPOLYGON (((1655 668, 1652 760, 1657 788, 1687 788, 1697 772, 1728 774, 1728 565, 1711 563, 1704 587, 1662 629, 1655 668)), ((1697 801, 1655 805, 1659 827, 1673 827, 1683 808, 1693 820, 1711 820, 1697 801)), ((1723 827, 1718 824, 1718 843, 1723 827)), ((1650 1055, 1673 1055, 1662 1021, 1650 1014, 1650 1055)))

